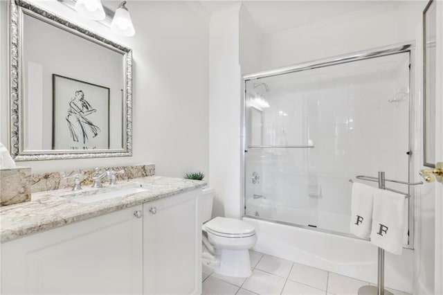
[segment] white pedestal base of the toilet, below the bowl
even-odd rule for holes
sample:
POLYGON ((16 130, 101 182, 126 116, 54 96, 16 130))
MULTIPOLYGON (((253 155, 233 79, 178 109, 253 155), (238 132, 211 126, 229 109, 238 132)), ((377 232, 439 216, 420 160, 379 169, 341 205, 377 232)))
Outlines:
POLYGON ((235 276, 237 278, 246 278, 251 276, 251 260, 249 259, 249 250, 217 250, 220 267, 214 269, 215 273, 223 276, 235 276))

